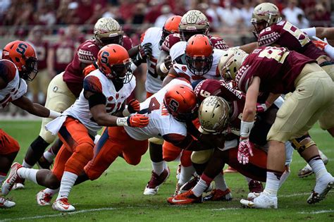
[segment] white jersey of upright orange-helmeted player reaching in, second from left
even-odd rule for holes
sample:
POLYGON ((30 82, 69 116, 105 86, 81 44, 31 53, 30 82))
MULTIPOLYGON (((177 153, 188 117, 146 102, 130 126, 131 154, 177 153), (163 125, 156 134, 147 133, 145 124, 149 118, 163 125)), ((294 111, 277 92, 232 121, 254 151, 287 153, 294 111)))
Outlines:
POLYGON ((92 113, 89 111, 88 99, 84 96, 84 90, 102 93, 106 97, 106 113, 113 114, 120 110, 125 99, 127 99, 132 90, 135 89, 136 80, 132 76, 132 80, 123 85, 123 87, 116 92, 113 82, 106 78, 106 75, 100 70, 94 70, 85 77, 83 90, 80 92, 79 98, 75 103, 63 112, 63 115, 73 116, 77 118, 83 125, 87 127, 89 133, 95 135, 101 126, 94 120, 92 113))

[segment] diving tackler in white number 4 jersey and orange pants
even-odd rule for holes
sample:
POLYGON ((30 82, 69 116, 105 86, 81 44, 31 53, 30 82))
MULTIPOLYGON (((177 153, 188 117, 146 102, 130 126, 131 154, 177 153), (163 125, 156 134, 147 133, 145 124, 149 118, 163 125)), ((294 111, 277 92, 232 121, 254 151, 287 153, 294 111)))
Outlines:
MULTIPOLYGON (((194 141, 187 133, 185 121, 192 120, 197 113, 197 101, 192 87, 185 80, 175 79, 140 104, 142 113, 149 118, 144 128, 109 127, 94 147, 94 158, 85 166, 76 184, 85 180, 96 180, 118 156, 128 164, 137 165, 147 151, 148 139, 158 137, 183 149, 205 146, 194 141)), ((198 149, 198 148, 197 148, 198 149)), ((161 178, 163 179, 163 178, 161 178)), ((164 180, 161 180, 163 183, 164 180)), ((47 204, 54 193, 49 189, 39 192, 39 204, 47 204)))

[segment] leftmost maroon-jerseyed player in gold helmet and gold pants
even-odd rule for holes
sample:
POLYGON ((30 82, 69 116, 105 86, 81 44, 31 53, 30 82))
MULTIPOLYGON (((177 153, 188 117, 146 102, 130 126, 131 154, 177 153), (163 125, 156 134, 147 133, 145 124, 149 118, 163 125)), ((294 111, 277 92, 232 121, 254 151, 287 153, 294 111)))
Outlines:
MULTIPOLYGON (((100 18, 94 25, 94 39, 86 40, 80 44, 73 61, 68 64, 65 71, 56 75, 55 78, 51 80, 45 106, 58 112, 68 109, 68 107, 74 103, 75 99, 79 97, 82 90, 84 78, 82 71, 86 66, 89 66, 97 60, 97 54, 101 47, 111 43, 123 45, 127 50, 132 48, 131 39, 124 35, 122 28, 116 20, 113 18, 100 18)), ((27 149, 23 166, 32 168, 42 156, 44 149, 56 139, 56 135, 51 135, 51 133, 44 128, 49 121, 51 121, 51 119, 43 118, 39 136, 27 149)), ((54 144, 54 147, 50 148, 51 151, 47 151, 45 155, 49 156, 51 154, 52 159, 52 157, 56 156, 60 147, 61 142, 57 142, 54 144)), ((14 186, 14 189, 23 187, 24 186, 19 183, 14 186)))

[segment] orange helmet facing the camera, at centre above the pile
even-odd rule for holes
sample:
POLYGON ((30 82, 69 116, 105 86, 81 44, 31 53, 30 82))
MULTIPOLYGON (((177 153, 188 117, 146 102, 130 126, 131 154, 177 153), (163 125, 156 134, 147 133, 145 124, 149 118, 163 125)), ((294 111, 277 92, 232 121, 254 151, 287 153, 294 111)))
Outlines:
POLYGON ((185 61, 194 75, 204 75, 209 72, 214 60, 214 47, 206 35, 193 35, 185 48, 185 61))

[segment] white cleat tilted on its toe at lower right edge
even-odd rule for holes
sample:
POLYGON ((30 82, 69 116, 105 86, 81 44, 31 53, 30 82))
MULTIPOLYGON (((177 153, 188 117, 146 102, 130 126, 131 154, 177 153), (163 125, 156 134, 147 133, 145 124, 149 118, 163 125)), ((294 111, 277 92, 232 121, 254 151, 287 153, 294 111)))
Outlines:
POLYGON ((330 189, 334 188, 334 178, 332 175, 330 175, 330 173, 323 175, 322 178, 320 178, 316 183, 314 190, 312 190, 311 195, 309 195, 309 198, 307 198, 307 203, 315 204, 317 202, 321 202, 321 200, 325 199, 330 189), (322 178, 324 179, 321 181, 322 178))

